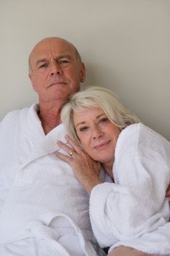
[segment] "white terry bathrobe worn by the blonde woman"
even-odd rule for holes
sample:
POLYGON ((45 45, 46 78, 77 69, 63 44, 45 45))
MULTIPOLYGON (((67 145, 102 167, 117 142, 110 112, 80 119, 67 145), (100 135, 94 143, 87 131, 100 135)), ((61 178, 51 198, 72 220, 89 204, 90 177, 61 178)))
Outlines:
POLYGON ((98 243, 124 245, 170 255, 170 143, 143 124, 123 129, 113 166, 115 183, 98 184, 90 194, 90 221, 98 243))

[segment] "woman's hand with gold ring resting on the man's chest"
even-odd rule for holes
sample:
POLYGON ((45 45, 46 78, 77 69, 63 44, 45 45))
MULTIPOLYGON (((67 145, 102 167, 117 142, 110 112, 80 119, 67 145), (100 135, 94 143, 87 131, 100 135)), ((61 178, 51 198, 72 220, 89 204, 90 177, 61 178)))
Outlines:
POLYGON ((68 162, 72 166, 77 180, 80 181, 82 187, 84 187, 90 195, 93 187, 97 184, 101 184, 101 180, 98 177, 101 170, 101 165, 99 162, 91 159, 85 151, 82 151, 82 148, 74 140, 72 140, 69 135, 66 135, 66 140, 69 142, 72 148, 61 141, 58 141, 58 146, 63 148, 63 150, 68 153, 68 156, 59 152, 56 152, 55 154, 58 158, 68 162))

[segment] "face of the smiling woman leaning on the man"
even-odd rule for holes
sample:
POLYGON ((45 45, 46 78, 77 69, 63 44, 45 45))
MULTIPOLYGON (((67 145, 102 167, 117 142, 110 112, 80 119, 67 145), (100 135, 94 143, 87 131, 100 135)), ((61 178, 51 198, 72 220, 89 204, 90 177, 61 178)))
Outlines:
POLYGON ((112 165, 120 129, 109 121, 101 108, 74 111, 73 120, 82 148, 104 166, 112 165))

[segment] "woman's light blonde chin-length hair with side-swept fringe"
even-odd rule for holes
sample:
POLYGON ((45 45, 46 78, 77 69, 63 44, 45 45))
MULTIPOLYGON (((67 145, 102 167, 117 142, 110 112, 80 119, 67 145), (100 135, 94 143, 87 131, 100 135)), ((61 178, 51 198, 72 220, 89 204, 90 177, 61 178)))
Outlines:
POLYGON ((139 123, 139 118, 123 107, 113 91, 104 87, 93 86, 73 94, 61 111, 61 121, 66 127, 66 132, 77 142, 80 140, 74 128, 73 116, 74 111, 81 111, 82 108, 101 108, 109 121, 120 130, 130 124, 139 123))

